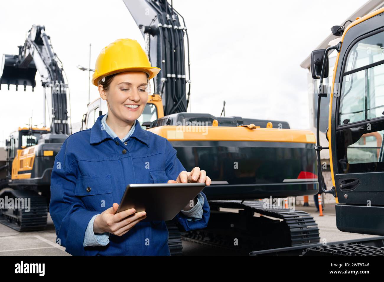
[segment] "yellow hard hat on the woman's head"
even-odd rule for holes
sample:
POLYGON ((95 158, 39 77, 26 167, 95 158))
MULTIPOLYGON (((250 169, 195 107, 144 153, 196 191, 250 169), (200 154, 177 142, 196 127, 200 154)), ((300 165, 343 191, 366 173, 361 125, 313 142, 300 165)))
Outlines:
POLYGON ((101 50, 96 59, 92 84, 98 86, 103 77, 123 71, 143 71, 154 78, 160 68, 152 67, 140 44, 133 39, 120 38, 101 50))

